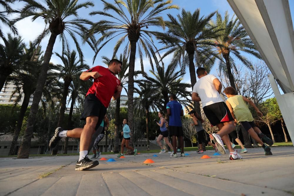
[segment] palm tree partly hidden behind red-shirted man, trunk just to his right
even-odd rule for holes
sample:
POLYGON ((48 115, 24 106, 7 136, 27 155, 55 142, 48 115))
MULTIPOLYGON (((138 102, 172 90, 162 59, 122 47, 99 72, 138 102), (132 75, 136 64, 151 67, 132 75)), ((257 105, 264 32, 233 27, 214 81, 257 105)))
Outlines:
MULTIPOLYGON (((117 57, 115 57, 115 58, 117 58, 117 57)), ((102 56, 102 59, 103 59, 103 63, 105 63, 106 65, 108 65, 109 61, 111 60, 110 58, 108 58, 106 56, 102 56)), ((126 89, 126 85, 128 84, 128 76, 129 76, 129 73, 127 72, 128 68, 129 68, 128 56, 124 56, 123 54, 120 54, 119 60, 121 62, 123 62, 123 64, 121 66, 121 72, 118 74, 118 79, 121 81, 121 86, 126 90, 126 92, 128 92, 126 89)), ((141 73, 141 71, 134 71, 134 76, 137 77, 140 73, 141 73)), ((119 144, 119 134, 120 134, 119 125, 121 123, 121 122, 119 122, 120 104, 121 104, 121 98, 116 99, 116 109, 115 109, 115 114, 114 114, 115 131, 114 131, 113 153, 118 153, 120 150, 119 145, 118 145, 119 144)))

